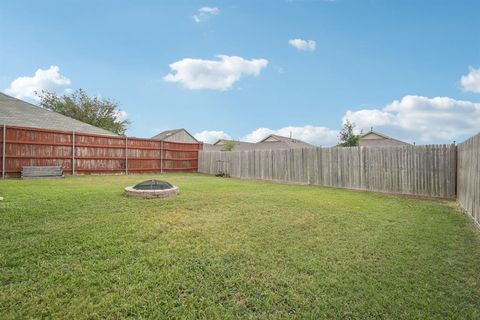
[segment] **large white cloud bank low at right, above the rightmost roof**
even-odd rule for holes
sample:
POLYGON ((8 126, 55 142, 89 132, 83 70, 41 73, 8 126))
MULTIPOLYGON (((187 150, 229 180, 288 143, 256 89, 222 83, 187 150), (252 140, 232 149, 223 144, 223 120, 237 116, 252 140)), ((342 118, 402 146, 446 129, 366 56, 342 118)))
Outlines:
POLYGON ((405 96, 381 109, 347 111, 358 129, 374 130, 422 143, 451 142, 479 131, 480 103, 448 97, 405 96))

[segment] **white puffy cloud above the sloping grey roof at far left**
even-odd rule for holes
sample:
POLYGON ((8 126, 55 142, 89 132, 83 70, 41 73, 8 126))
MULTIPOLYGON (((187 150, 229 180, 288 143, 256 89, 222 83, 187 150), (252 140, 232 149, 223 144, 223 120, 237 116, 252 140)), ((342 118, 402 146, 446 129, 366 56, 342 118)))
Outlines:
POLYGON ((32 77, 18 77, 5 92, 19 99, 38 99, 36 91, 57 91, 70 84, 70 79, 60 74, 58 66, 51 66, 48 69, 38 69, 32 77))

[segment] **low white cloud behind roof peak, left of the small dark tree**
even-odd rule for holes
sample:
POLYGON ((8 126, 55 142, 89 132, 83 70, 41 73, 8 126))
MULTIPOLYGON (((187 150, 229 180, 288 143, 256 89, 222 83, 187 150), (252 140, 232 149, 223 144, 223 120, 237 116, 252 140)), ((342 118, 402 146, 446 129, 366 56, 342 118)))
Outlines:
POLYGON ((303 127, 283 127, 280 129, 258 128, 243 137, 243 141, 258 142, 268 136, 269 134, 277 134, 284 137, 302 140, 308 143, 331 146, 338 142, 338 130, 329 129, 326 127, 315 127, 305 125, 303 127))

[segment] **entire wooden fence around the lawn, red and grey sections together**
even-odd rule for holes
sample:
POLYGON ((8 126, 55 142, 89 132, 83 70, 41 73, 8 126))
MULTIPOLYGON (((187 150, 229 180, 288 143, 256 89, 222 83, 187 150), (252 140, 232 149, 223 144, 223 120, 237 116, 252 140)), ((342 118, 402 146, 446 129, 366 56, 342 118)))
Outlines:
POLYGON ((458 145, 201 151, 197 143, 0 127, 0 172, 57 165, 67 174, 189 171, 455 198, 480 228, 480 134, 458 145))

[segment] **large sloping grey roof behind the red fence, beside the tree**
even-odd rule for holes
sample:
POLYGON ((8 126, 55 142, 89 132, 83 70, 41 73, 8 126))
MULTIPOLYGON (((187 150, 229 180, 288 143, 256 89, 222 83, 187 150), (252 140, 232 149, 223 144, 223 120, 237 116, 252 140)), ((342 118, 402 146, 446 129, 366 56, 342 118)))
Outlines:
POLYGON ((18 127, 117 136, 117 134, 111 131, 92 126, 45 108, 37 107, 0 92, 0 125, 3 124, 18 127))

